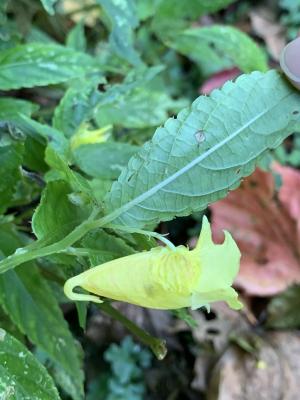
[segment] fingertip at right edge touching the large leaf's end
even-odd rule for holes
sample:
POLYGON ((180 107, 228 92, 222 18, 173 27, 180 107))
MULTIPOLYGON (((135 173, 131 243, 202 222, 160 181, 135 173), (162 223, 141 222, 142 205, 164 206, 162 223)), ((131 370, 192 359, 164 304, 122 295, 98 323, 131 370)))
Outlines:
POLYGON ((280 66, 287 77, 300 88, 300 37, 284 48, 281 53, 280 66))

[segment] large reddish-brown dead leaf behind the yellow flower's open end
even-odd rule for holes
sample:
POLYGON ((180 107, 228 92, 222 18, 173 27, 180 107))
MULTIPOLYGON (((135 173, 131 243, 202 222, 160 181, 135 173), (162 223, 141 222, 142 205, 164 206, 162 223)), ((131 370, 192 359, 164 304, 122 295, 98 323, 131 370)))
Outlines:
POLYGON ((242 252, 236 284, 250 295, 272 296, 300 282, 300 172, 274 166, 283 181, 257 170, 241 187, 211 206, 213 232, 229 230, 242 252))

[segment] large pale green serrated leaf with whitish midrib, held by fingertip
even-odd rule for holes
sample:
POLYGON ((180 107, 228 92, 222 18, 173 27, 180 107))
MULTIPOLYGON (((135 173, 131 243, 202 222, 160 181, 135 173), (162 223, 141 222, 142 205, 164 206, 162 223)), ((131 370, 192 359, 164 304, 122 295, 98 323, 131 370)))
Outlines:
POLYGON ((200 96, 131 158, 105 198, 105 221, 153 226, 225 197, 294 131, 299 101, 276 71, 242 75, 200 96))

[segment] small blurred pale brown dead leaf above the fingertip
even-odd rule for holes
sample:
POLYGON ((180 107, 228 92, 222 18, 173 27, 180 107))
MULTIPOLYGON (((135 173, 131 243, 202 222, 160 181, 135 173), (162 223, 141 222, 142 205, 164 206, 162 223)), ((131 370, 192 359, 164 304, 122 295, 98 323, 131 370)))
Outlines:
POLYGON ((284 28, 276 21, 274 9, 259 7, 250 12, 254 33, 264 39, 269 53, 278 61, 286 45, 284 28))

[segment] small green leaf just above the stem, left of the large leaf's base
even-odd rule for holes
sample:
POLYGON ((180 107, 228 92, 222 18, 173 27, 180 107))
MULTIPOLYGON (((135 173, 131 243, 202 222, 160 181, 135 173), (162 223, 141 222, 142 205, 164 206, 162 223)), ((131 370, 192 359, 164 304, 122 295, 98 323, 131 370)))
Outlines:
POLYGON ((72 203, 72 190, 64 181, 49 182, 32 218, 38 239, 59 240, 88 218, 90 208, 72 203))

